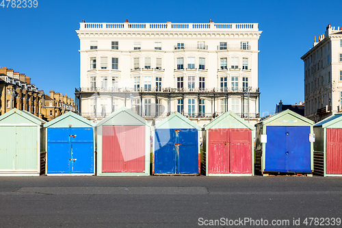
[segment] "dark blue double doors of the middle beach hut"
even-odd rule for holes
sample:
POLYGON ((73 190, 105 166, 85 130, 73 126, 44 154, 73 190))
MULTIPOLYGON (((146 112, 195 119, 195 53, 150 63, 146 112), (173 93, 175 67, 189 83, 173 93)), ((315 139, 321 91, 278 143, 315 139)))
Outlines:
POLYGON ((155 174, 198 173, 196 129, 155 130, 155 174))

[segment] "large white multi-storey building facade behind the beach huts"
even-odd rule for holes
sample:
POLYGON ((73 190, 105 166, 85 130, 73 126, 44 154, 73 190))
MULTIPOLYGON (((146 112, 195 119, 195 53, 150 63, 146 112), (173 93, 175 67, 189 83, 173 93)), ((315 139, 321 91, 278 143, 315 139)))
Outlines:
POLYGON ((80 23, 77 35, 83 117, 125 105, 157 122, 175 111, 199 124, 227 110, 259 118, 257 23, 80 23))

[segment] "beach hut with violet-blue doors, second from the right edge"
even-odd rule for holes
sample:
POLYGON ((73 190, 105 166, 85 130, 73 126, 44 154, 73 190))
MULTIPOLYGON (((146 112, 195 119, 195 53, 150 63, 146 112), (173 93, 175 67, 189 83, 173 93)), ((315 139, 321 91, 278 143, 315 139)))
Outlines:
POLYGON ((285 110, 255 125, 255 169, 261 173, 313 172, 313 121, 285 110))

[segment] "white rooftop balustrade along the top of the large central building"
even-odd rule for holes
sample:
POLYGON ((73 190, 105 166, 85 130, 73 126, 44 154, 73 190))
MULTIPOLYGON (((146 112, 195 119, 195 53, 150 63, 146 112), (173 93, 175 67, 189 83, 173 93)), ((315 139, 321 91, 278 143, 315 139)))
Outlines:
POLYGON ((258 23, 79 23, 79 30, 231 30, 258 31, 258 23))

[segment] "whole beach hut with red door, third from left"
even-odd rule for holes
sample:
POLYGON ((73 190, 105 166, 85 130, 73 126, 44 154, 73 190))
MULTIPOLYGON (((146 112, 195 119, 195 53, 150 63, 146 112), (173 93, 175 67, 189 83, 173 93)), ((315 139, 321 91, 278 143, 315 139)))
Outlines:
POLYGON ((150 175, 150 125, 121 107, 98 122, 97 175, 150 175))

